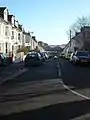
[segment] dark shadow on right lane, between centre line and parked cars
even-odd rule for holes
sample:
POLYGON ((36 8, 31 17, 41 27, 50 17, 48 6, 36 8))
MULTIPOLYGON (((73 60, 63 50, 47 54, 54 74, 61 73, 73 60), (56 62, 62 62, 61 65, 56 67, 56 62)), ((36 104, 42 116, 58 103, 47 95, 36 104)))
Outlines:
POLYGON ((73 65, 68 60, 61 60, 61 78, 68 86, 90 88, 90 65, 73 65))

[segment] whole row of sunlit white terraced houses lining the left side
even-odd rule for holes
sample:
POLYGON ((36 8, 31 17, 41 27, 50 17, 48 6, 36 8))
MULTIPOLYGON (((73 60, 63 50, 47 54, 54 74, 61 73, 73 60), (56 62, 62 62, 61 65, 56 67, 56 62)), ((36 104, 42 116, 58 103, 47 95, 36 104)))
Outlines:
POLYGON ((39 47, 35 36, 25 32, 23 26, 11 15, 6 7, 0 7, 0 52, 17 55, 17 50, 22 46, 30 47, 31 50, 39 47))

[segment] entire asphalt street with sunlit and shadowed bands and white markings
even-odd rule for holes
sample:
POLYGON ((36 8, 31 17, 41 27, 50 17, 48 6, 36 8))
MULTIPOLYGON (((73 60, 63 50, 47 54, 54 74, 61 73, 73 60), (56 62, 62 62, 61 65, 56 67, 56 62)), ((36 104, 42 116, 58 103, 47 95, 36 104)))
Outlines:
POLYGON ((90 66, 52 58, 0 85, 1 120, 85 120, 89 113, 90 66))

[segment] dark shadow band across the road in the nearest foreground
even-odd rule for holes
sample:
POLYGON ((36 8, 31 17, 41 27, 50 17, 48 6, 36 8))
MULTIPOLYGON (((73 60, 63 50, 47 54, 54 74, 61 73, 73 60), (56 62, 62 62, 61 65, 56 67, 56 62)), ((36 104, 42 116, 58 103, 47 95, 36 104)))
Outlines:
POLYGON ((70 120, 90 112, 90 100, 54 104, 32 111, 1 116, 1 120, 70 120))

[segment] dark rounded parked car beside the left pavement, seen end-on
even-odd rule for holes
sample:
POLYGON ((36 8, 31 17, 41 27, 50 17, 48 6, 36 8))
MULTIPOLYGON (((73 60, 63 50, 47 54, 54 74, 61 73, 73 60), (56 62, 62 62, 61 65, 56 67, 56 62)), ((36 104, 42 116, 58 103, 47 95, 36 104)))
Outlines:
POLYGON ((25 58, 25 66, 36 66, 36 65, 42 65, 43 59, 40 55, 40 53, 37 52, 30 52, 27 54, 25 58))

